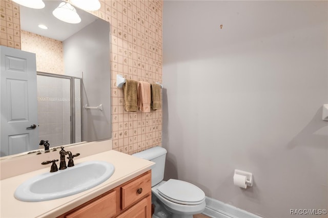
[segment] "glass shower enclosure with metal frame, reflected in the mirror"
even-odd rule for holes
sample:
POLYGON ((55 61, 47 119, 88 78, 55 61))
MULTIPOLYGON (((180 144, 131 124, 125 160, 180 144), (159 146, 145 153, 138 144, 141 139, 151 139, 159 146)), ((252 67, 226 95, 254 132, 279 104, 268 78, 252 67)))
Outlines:
POLYGON ((83 141, 82 78, 37 72, 39 141, 50 147, 83 141))

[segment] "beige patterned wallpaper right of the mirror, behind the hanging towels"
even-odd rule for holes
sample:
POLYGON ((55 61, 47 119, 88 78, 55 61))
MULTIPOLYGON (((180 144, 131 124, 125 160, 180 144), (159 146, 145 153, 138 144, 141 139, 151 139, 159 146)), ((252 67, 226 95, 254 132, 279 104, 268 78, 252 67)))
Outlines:
MULTIPOLYGON (((111 24, 113 149, 133 154, 161 146, 162 110, 125 112, 123 90, 116 88, 116 75, 150 83, 162 82, 162 1, 100 0, 100 3, 101 8, 92 13, 111 24)), ((10 23, 11 16, 14 16, 7 8, 19 17, 15 3, 1 0, 2 33, 12 32, 9 27, 3 26, 10 23)), ((1 45, 9 43, 8 37, 1 39, 1 45)))

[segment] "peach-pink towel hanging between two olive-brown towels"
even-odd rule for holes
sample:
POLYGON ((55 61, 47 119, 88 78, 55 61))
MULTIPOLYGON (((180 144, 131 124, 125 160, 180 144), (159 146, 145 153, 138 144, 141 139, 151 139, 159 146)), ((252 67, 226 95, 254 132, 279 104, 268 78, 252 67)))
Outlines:
POLYGON ((150 112, 150 84, 139 81, 138 83, 138 107, 142 112, 150 112))

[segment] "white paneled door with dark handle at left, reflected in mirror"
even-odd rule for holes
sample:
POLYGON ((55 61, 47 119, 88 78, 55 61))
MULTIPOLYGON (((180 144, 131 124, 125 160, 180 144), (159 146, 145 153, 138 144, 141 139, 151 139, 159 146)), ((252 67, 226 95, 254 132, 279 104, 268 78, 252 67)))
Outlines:
POLYGON ((35 54, 0 46, 1 157, 38 148, 35 54))

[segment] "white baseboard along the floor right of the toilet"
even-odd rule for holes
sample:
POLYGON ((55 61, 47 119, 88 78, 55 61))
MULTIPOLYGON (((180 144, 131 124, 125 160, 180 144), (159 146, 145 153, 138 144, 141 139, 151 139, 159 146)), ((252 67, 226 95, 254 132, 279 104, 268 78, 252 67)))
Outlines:
POLYGON ((202 214, 212 218, 261 218, 261 216, 209 197, 206 197, 206 208, 202 214))

